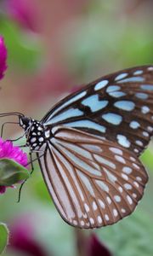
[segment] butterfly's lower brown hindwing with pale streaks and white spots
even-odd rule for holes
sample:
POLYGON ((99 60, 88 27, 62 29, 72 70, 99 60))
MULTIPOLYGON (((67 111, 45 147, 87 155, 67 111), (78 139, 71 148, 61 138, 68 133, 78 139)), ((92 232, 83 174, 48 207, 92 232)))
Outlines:
POLYGON ((114 224, 133 212, 148 179, 133 152, 62 126, 39 163, 61 217, 84 229, 114 224))

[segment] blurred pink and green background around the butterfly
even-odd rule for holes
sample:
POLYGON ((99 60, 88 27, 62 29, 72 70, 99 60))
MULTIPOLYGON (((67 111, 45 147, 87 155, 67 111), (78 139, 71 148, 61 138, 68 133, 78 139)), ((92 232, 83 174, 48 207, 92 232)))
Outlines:
MULTIPOLYGON (((42 119, 77 86, 125 67, 153 63, 152 13, 151 0, 0 0, 0 34, 8 48, 0 112, 42 119)), ((4 136, 19 133, 9 125, 4 136)), ((136 211, 118 224, 94 230, 115 256, 153 255, 152 143, 142 160, 150 180, 136 211)), ((0 195, 0 221, 8 224, 13 244, 5 256, 85 255, 78 241, 90 232, 77 232, 59 217, 37 164, 20 203, 18 194, 19 189, 8 189, 0 195), (28 253, 26 241, 24 251, 22 236, 37 251, 28 253)))

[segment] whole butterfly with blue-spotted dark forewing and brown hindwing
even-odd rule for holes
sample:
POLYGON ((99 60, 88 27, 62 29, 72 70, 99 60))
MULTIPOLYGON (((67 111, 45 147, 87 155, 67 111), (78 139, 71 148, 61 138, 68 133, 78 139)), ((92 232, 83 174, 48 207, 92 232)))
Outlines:
POLYGON ((93 229, 133 212, 148 181, 139 155, 153 135, 153 66, 106 75, 41 121, 19 119, 66 223, 93 229))

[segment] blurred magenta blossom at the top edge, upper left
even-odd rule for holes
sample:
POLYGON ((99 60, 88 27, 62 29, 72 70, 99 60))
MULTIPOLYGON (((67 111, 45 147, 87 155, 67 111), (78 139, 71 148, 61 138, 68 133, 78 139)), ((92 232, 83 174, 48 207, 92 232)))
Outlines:
POLYGON ((7 0, 8 15, 32 32, 37 32, 37 4, 32 0, 7 0))

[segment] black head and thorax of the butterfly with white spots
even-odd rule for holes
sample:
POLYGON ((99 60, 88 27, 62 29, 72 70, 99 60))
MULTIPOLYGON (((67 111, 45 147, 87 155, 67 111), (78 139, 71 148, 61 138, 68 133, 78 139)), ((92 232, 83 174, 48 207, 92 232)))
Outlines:
POLYGON ((26 145, 31 150, 42 150, 48 143, 48 138, 51 137, 51 132, 41 122, 20 116, 20 126, 26 132, 26 145))

